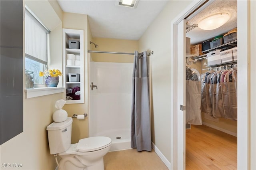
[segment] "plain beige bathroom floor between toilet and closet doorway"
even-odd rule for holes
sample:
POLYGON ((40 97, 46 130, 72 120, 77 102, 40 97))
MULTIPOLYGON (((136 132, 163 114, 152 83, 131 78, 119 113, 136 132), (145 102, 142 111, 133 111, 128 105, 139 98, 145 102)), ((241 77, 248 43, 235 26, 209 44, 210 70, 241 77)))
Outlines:
POLYGON ((156 152, 136 149, 108 152, 104 156, 105 170, 168 170, 156 152))

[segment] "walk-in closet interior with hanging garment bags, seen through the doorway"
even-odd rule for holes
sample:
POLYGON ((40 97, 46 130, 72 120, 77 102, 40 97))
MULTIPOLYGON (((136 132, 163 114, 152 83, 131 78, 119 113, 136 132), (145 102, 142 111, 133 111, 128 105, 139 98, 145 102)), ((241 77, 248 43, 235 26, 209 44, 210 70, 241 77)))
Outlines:
POLYGON ((236 1, 218 0, 186 19, 186 169, 237 169, 236 14, 236 1), (213 14, 230 18, 213 30, 193 27, 213 14))

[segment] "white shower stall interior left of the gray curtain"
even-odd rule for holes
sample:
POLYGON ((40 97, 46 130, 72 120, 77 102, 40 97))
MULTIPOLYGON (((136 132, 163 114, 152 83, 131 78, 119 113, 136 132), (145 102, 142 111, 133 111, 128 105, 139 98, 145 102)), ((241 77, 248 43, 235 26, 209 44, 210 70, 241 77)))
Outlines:
POLYGON ((133 63, 90 61, 89 136, 108 136, 110 151, 131 148, 133 63))

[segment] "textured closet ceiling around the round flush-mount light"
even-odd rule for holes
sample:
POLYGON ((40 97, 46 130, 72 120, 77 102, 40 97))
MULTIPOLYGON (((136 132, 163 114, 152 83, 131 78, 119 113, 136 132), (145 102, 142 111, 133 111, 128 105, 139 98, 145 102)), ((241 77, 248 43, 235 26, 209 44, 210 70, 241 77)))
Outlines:
POLYGON ((216 28, 215 30, 202 30, 200 28, 194 28, 190 32, 186 33, 186 37, 190 38, 190 44, 196 45, 206 40, 213 40, 214 37, 226 34, 228 31, 237 27, 237 2, 236 0, 216 0, 207 6, 204 10, 198 13, 194 18, 188 21, 189 24, 198 24, 200 20, 206 16, 212 14, 226 12, 230 14, 230 19, 223 26, 216 28))

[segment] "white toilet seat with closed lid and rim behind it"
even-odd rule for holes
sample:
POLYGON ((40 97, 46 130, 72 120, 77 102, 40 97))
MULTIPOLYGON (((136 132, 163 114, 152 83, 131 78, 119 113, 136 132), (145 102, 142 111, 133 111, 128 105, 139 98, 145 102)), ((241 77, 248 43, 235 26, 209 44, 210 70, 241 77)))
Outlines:
POLYGON ((111 145, 111 138, 105 136, 95 136, 89 138, 80 139, 76 144, 70 144, 70 147, 65 152, 61 152, 58 155, 85 155, 86 152, 92 152, 106 148, 111 145))

